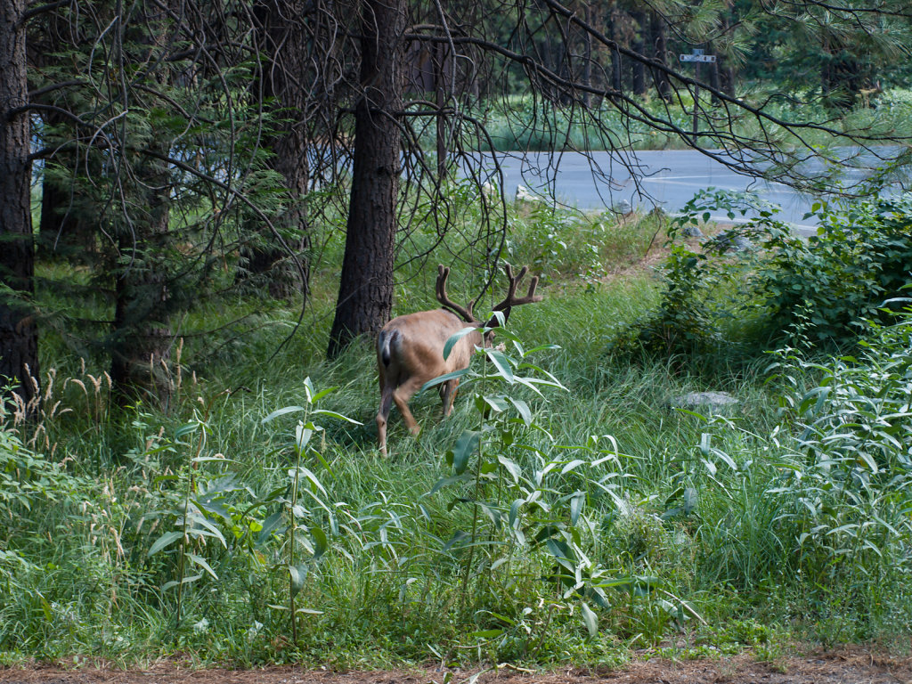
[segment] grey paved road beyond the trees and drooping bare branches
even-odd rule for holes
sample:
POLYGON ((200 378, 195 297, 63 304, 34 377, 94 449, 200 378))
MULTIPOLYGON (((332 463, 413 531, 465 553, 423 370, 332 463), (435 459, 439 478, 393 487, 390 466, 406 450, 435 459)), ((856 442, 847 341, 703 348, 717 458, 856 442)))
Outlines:
MULTIPOLYGON (((637 164, 638 181, 631 178, 627 164, 617 156, 609 152, 592 152, 591 156, 592 161, 578 152, 560 155, 559 160, 545 152, 531 154, 526 160, 518 155, 507 157, 502 161, 505 194, 513 197, 521 184, 545 193, 546 179, 551 177, 558 200, 579 209, 601 209, 627 202, 646 211, 660 206, 666 212, 678 212, 703 188, 751 190, 764 200, 779 204, 779 217, 800 233, 816 230, 814 217, 804 218, 814 203, 813 197, 798 194, 782 183, 741 175, 694 150, 631 152, 627 162, 637 164)), ((729 221, 721 212, 714 218, 729 221)))

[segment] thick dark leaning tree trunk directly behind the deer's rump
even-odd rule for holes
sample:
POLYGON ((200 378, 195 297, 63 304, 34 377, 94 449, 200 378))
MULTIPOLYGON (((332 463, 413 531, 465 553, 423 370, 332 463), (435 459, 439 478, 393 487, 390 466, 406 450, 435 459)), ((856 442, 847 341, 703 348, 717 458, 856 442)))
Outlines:
POLYGON ((393 299, 402 110, 404 0, 363 0, 361 83, 345 256, 327 356, 389 320, 393 299))

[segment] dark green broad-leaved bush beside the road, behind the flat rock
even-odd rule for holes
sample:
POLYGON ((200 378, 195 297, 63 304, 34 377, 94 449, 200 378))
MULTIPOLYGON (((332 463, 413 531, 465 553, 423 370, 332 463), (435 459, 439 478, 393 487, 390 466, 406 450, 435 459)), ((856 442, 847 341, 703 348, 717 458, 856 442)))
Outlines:
POLYGON ((750 193, 703 191, 673 222, 658 309, 621 340, 651 353, 717 351, 726 321, 731 341, 854 344, 869 321, 885 321, 890 300, 912 273, 912 195, 845 205, 817 204, 817 234, 804 240, 776 219, 778 208, 750 193), (758 218, 692 248, 680 233, 723 210, 758 218), (732 251, 736 244, 747 244, 732 251), (744 322, 757 320, 759 326, 744 322))

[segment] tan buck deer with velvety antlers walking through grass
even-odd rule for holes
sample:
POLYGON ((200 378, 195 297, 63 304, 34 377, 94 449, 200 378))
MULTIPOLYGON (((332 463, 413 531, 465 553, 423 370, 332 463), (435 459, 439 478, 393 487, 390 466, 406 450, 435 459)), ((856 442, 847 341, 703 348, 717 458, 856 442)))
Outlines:
MULTIPOLYGON (((513 277, 513 269, 509 264, 505 264, 503 270, 510 281, 507 295, 503 302, 493 307, 492 311, 502 312, 503 319, 506 320, 513 306, 540 302, 542 297, 535 295, 535 287, 538 286, 537 276, 532 279, 527 295, 516 296, 516 287, 529 271, 527 266, 523 266, 523 270, 516 277, 513 277)), ((497 316, 492 316, 491 320, 482 324, 482 321, 472 314, 475 300, 469 302, 468 306, 459 306, 451 302, 447 295, 449 275, 449 268, 442 265, 437 267, 437 300, 443 308, 393 318, 383 326, 377 337, 377 368, 380 381, 377 432, 380 453, 383 456, 387 455, 387 420, 393 402, 395 401, 399 407, 399 413, 402 414, 409 432, 417 435, 420 428, 409 410, 409 399, 429 380, 468 368, 475 347, 490 347, 494 333, 490 330, 482 338, 480 330, 473 330, 461 337, 452 347, 450 355, 443 358, 443 347, 447 340, 465 327, 492 328, 499 325, 497 316)), ((459 378, 451 378, 440 384, 444 417, 450 415, 458 385, 459 378)))

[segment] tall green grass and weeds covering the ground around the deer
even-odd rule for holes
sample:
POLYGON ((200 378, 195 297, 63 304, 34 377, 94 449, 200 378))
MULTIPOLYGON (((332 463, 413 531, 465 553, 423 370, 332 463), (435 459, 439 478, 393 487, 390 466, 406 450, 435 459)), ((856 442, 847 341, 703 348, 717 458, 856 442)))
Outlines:
MULTIPOLYGON (((823 419, 857 407, 815 404, 810 444, 808 417, 781 411, 780 399, 798 407, 820 382, 822 366, 798 358, 780 359, 793 388, 769 381, 768 355, 709 372, 706 359, 611 353, 658 304, 651 272, 625 268, 661 242, 658 219, 511 211, 511 258, 546 282, 544 301, 517 308, 509 330, 526 349, 556 347, 526 360, 564 389, 539 395, 476 359, 482 378, 463 385, 448 420, 433 391, 412 402, 419 438, 394 412, 387 460, 370 345, 322 356, 330 295, 296 331, 294 307, 262 301, 192 312, 189 331, 259 307, 243 335, 187 337, 168 411, 112 414, 103 369, 81 368, 46 338, 43 367, 61 370, 46 383, 45 416, 29 425, 6 414, 0 431, 0 661, 192 653, 235 665, 597 666, 630 648, 664 653, 679 632, 695 654, 768 658, 794 637, 907 633, 902 448, 888 436, 870 448, 880 472, 848 456, 821 465, 820 444, 842 439, 839 420, 823 419), (305 378, 335 389, 315 404, 305 378), (739 404, 722 417, 671 407, 700 389, 739 404), (475 392, 493 398, 488 409, 475 392), (525 402, 527 415, 499 396, 525 402), (299 410, 264 421, 285 407, 299 410), (299 421, 313 423, 306 444, 299 421), (484 434, 481 457, 461 447, 467 430, 484 434), (858 478, 864 486, 847 486, 858 478), (304 611, 295 630, 292 593, 304 611)), ((432 306, 431 276, 412 264, 400 274, 397 312, 432 306)), ((454 281, 468 292, 477 276, 454 281)), ((876 348, 902 359, 903 339, 886 331, 876 348)), ((838 372, 840 387, 865 396, 864 370, 838 372)), ((907 410, 885 411, 907 430, 907 410)))

